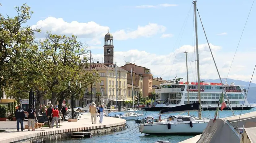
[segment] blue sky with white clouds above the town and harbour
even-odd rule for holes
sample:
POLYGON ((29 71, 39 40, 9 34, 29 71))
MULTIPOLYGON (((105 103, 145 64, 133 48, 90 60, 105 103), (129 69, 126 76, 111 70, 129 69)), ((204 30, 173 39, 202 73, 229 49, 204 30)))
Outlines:
MULTIPOLYGON (((3 1, 0 13, 17 15, 14 7, 27 3, 34 12, 26 23, 59 35, 77 35, 88 44, 95 62, 103 59, 104 35, 113 34, 114 62, 125 62, 151 69, 154 77, 165 80, 186 75, 188 52, 189 81, 196 81, 194 6, 192 1, 3 1)), ((256 6, 253 0, 197 1, 197 9, 221 78, 250 81, 255 66, 256 6), (232 63, 232 66, 231 66, 232 63), (228 74, 229 68, 230 72, 228 74)), ((198 14, 197 14, 198 15, 198 14)), ((197 16, 200 79, 218 79, 217 70, 197 16)), ((256 78, 252 80, 256 83, 256 78)))

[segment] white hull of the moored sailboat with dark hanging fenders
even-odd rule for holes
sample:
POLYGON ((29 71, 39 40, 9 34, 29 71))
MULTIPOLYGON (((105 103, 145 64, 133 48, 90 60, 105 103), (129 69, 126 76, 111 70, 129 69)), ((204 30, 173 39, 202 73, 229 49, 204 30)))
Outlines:
POLYGON ((169 135, 196 135, 201 134, 206 128, 209 120, 206 121, 193 121, 193 127, 190 127, 189 121, 182 123, 171 123, 170 122, 155 122, 153 124, 142 124, 140 125, 139 131, 145 134, 169 134, 169 135), (168 123, 171 124, 171 128, 168 129, 168 123))

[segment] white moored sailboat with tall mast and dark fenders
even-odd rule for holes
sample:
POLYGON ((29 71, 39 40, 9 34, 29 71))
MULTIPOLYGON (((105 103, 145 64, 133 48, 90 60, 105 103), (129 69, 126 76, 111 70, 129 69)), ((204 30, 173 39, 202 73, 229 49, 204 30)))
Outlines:
MULTIPOLYGON (((196 1, 194 3, 194 17, 195 17, 195 32, 196 32, 196 58, 197 58, 197 80, 198 89, 200 88, 200 72, 199 72, 199 52, 198 52, 198 38, 197 38, 197 12, 196 12, 196 1)), ((195 135, 201 134, 209 123, 210 119, 201 118, 201 91, 198 90, 198 118, 194 116, 183 116, 183 115, 171 115, 164 121, 159 122, 148 122, 140 124, 139 132, 145 134, 170 134, 170 135, 195 135)), ((192 108, 195 108, 192 105, 192 108)), ((167 108, 160 111, 161 114, 170 113, 171 108, 167 108)))

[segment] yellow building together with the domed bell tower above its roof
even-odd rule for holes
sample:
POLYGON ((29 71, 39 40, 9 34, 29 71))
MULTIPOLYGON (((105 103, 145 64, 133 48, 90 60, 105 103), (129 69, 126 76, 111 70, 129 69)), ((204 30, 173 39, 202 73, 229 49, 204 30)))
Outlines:
MULTIPOLYGON (((92 89, 90 85, 86 89, 86 93, 93 93, 93 101, 98 102, 98 97, 96 93, 99 92, 101 95, 101 90, 103 95, 100 97, 100 104, 109 103, 111 105, 116 104, 116 100, 118 102, 123 102, 127 99, 127 71, 117 67, 117 76, 116 76, 116 67, 114 63, 114 45, 113 45, 113 35, 109 32, 105 35, 104 38, 104 63, 91 64, 92 69, 95 69, 100 76, 100 80, 98 83, 94 83, 92 85, 92 89)), ((86 69, 87 72, 90 72, 90 68, 86 69)), ((85 99, 87 103, 90 103, 91 95, 86 94, 85 99)))

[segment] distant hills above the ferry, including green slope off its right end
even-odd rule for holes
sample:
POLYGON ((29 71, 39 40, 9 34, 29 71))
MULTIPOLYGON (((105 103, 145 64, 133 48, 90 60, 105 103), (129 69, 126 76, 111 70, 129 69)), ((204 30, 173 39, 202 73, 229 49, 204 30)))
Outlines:
MULTIPOLYGON (((221 79, 221 80, 224 84, 225 79, 221 79)), ((201 81, 220 83, 219 79, 216 79, 216 80, 208 79, 208 80, 201 80, 201 81)), ((232 82, 235 85, 244 85, 245 87, 243 87, 243 88, 245 88, 246 90, 248 90, 248 86, 250 84, 249 81, 227 79, 227 84, 230 84, 232 82)), ((247 100, 248 100, 249 103, 256 103, 256 84, 255 83, 251 83, 251 85, 250 85, 250 88, 249 88, 248 93, 247 93, 247 100)))

